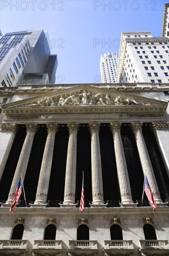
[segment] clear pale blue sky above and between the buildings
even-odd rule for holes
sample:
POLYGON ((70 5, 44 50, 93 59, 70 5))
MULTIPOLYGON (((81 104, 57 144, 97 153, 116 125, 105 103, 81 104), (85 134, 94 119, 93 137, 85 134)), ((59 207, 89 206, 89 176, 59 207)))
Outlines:
POLYGON ((100 55, 119 53, 122 31, 160 37, 167 0, 1 0, 2 34, 44 28, 58 54, 57 83, 100 80, 100 55))

